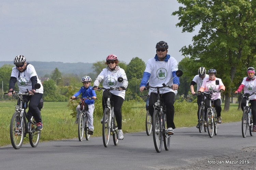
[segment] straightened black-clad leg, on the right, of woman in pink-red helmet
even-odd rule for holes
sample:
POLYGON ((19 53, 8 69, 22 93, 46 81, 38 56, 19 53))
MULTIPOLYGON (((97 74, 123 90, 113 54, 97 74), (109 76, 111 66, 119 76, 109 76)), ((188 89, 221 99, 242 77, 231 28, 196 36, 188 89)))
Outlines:
POLYGON ((118 130, 122 129, 122 113, 121 108, 124 102, 124 99, 120 96, 113 95, 113 106, 114 106, 114 113, 116 117, 116 123, 118 130))

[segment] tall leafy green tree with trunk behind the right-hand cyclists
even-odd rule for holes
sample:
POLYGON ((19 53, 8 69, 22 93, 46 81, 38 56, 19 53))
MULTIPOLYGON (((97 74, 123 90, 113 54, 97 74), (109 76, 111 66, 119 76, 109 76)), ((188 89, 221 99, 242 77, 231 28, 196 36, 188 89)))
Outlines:
POLYGON ((255 3, 251 0, 178 0, 184 6, 178 15, 182 32, 193 32, 193 45, 184 46, 183 55, 191 56, 208 68, 217 70, 226 86, 224 110, 229 110, 237 70, 246 67, 248 56, 255 57, 255 3))

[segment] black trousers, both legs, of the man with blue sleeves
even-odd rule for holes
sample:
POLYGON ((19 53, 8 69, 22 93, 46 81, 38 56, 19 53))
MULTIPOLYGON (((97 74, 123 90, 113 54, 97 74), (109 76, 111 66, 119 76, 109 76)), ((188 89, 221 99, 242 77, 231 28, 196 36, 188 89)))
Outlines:
MULTIPOLYGON (((172 128, 175 129, 175 124, 173 122, 174 119, 174 97, 175 94, 174 92, 168 92, 165 94, 161 94, 160 95, 161 100, 163 103, 165 103, 166 105, 166 122, 167 122, 167 128, 172 128)), ((151 117, 153 117, 153 113, 154 113, 154 103, 157 101, 157 93, 151 93, 150 94, 150 101, 148 104, 148 111, 151 115, 151 117)))

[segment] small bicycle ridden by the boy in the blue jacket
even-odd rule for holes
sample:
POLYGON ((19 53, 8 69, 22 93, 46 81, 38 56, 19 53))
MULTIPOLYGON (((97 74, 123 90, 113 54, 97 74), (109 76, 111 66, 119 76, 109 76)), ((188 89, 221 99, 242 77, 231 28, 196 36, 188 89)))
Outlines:
MULTIPOLYGON (((72 99, 72 98, 71 98, 72 99)), ((82 98, 82 97, 76 97, 72 100, 80 100, 80 115, 78 118, 78 139, 79 141, 82 141, 85 134, 85 139, 90 140, 91 135, 89 134, 89 127, 88 127, 88 117, 86 114, 86 111, 88 111, 88 105, 85 103, 85 100, 94 100, 90 97, 82 98)), ((96 98, 97 99, 97 98, 96 98)))

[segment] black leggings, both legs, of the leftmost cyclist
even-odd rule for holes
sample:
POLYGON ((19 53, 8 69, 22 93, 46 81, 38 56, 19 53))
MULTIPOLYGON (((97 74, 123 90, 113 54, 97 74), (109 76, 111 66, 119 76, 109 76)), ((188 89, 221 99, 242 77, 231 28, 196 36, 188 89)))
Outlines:
POLYGON ((30 119, 32 116, 34 116, 35 121, 38 122, 42 122, 41 119, 41 114, 38 108, 38 104, 42 98, 43 94, 39 93, 33 96, 26 96, 23 95, 22 98, 25 101, 25 108, 27 107, 26 105, 28 104, 28 119, 30 119))

